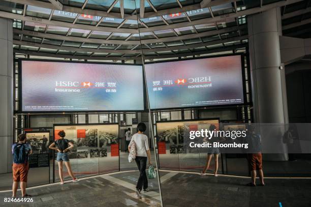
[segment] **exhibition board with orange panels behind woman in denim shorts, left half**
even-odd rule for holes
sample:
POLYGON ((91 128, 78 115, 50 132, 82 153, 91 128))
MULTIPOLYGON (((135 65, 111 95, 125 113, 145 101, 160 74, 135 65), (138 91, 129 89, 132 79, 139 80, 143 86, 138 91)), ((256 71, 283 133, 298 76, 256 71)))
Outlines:
MULTIPOLYGON (((54 125, 54 140, 59 139, 59 131, 64 131, 65 138, 74 144, 68 156, 77 177, 119 171, 118 123, 54 125)), ((54 181, 58 180, 54 152, 54 181)))

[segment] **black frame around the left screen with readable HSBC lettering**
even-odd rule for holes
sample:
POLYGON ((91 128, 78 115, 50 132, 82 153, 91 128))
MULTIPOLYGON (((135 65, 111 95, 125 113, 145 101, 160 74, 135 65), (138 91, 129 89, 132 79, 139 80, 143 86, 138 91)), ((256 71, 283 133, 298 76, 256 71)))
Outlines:
POLYGON ((127 63, 102 63, 102 62, 82 62, 82 61, 61 61, 61 60, 42 60, 42 59, 26 59, 19 58, 18 59, 18 110, 17 113, 95 113, 95 112, 146 112, 146 87, 145 87, 145 75, 142 64, 127 64, 127 63), (142 66, 142 87, 143 87, 143 110, 81 110, 81 111, 24 111, 22 108, 22 61, 39 61, 39 62, 58 62, 58 63, 80 63, 80 64, 98 64, 98 65, 136 65, 142 66))

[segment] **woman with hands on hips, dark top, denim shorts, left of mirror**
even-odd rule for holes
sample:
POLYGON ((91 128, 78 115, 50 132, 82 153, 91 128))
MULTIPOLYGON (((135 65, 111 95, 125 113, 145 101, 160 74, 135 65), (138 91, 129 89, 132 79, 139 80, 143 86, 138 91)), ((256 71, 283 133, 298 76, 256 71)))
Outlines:
POLYGON ((63 161, 65 162, 68 174, 70 175, 70 177, 72 177, 72 181, 77 182, 78 179, 72 173, 71 165, 70 165, 70 161, 69 161, 68 153, 67 153, 74 147, 74 144, 72 142, 70 142, 68 139, 65 139, 66 133, 64 131, 58 132, 57 135, 60 137, 60 139, 53 142, 49 146, 49 148, 58 151, 56 161, 58 163, 58 173, 59 173, 59 178, 60 178, 60 184, 61 185, 64 184, 63 161), (54 147, 54 146, 56 146, 56 147, 54 147))

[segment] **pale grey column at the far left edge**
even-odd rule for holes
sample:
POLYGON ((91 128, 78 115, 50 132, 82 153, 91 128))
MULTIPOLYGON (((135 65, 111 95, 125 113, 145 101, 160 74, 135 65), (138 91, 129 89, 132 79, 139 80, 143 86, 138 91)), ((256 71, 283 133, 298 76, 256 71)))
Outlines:
POLYGON ((0 18, 0 173, 12 172, 13 25, 0 18))

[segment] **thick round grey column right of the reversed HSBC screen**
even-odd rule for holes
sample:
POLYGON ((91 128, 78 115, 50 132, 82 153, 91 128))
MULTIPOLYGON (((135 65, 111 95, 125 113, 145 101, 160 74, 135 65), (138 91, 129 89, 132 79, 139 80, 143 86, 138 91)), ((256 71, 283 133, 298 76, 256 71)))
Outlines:
MULTIPOLYGON (((247 22, 255 122, 288 123, 285 70, 279 50, 281 10, 248 16, 247 22)), ((278 137, 277 133, 270 136, 278 137)), ((263 158, 288 159, 287 154, 264 154, 263 158)))

